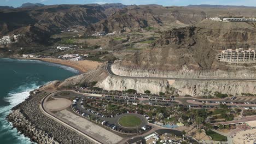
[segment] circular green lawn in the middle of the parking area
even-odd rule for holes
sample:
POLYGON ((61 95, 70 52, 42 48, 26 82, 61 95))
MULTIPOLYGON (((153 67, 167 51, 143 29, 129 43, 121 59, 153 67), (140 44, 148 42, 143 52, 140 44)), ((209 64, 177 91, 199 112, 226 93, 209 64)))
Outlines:
POLYGON ((118 123, 126 128, 134 128, 141 125, 142 121, 137 116, 123 116, 118 120, 118 123))

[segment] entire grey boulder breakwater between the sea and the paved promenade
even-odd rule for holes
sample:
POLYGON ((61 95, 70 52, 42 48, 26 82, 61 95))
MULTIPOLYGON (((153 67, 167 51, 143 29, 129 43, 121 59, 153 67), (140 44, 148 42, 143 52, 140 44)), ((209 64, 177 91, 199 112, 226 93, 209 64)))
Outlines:
POLYGON ((37 143, 93 143, 40 111, 40 101, 47 94, 46 92, 31 93, 24 102, 13 107, 7 116, 8 121, 18 131, 37 143))

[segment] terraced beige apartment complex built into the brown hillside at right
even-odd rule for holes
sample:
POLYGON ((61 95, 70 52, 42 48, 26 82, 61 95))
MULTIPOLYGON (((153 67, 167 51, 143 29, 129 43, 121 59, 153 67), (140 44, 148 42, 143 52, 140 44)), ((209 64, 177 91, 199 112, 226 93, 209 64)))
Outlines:
POLYGON ((234 63, 234 64, 253 64, 256 63, 256 51, 254 49, 243 50, 242 48, 232 50, 223 50, 218 54, 220 62, 234 63))

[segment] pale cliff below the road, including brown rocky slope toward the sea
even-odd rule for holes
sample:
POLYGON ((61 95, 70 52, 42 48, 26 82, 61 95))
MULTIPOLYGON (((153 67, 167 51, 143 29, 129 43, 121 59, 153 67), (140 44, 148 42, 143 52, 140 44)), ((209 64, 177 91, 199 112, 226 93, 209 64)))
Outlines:
POLYGON ((144 93, 149 90, 152 93, 169 92, 174 95, 189 94, 193 97, 213 95, 214 92, 222 92, 240 96, 241 93, 256 94, 256 81, 236 80, 167 80, 167 79, 139 79, 120 76, 109 76, 106 71, 106 64, 88 73, 71 77, 63 81, 59 88, 79 85, 85 82, 97 81, 96 87, 110 90, 125 91, 136 89, 144 93))

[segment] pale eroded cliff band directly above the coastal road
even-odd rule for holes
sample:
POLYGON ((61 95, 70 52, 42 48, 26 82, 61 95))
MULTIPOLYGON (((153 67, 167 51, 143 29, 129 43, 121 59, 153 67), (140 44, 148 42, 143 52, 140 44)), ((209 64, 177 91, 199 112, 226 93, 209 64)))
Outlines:
POLYGON ((256 79, 255 67, 230 66, 226 70, 193 70, 183 67, 178 70, 167 70, 166 66, 161 69, 148 67, 139 67, 131 63, 117 62, 112 64, 114 74, 120 76, 142 76, 142 77, 171 77, 171 78, 228 78, 228 79, 256 79), (166 68, 166 69, 165 69, 166 68))

